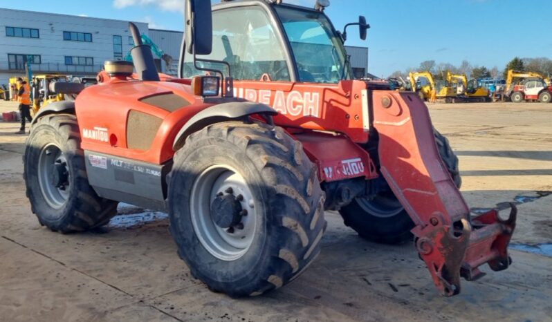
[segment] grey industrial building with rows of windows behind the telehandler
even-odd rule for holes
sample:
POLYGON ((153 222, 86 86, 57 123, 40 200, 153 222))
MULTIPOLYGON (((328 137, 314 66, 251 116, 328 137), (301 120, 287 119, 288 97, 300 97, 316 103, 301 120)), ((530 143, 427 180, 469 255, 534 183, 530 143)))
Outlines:
MULTIPOLYGON (((155 58, 163 73, 176 75, 183 32, 150 29, 147 23, 136 25, 174 57, 169 66, 155 58)), ((35 74, 95 75, 104 61, 124 59, 133 46, 128 21, 0 8, 0 84, 25 75, 27 61, 35 74)), ((347 52, 354 75, 364 77, 368 48, 347 46, 347 52)))

